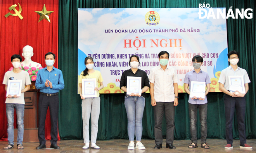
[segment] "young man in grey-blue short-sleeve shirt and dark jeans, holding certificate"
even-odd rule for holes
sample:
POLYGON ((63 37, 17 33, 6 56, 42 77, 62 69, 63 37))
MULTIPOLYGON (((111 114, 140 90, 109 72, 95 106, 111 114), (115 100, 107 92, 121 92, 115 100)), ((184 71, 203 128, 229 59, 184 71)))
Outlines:
POLYGON ((190 117, 190 134, 192 143, 188 148, 197 148, 197 108, 199 110, 200 122, 201 122, 201 147, 209 149, 210 147, 206 143, 207 137, 207 98, 206 95, 210 90, 211 80, 208 73, 201 70, 203 58, 196 55, 192 58, 194 70, 188 72, 185 76, 185 91, 190 95, 191 81, 205 82, 206 91, 205 97, 193 97, 189 98, 189 117, 190 117), (188 89, 189 86, 189 89, 188 89))

